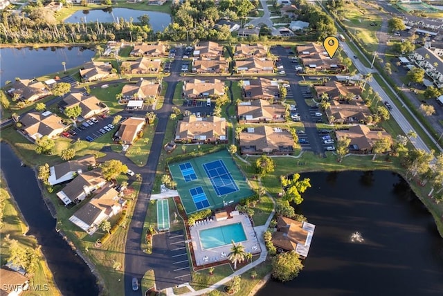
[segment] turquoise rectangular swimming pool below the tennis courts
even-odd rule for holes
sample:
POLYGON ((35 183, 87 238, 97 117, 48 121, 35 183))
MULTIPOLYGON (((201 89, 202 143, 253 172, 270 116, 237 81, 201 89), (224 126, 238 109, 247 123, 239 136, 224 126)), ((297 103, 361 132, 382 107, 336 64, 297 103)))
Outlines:
POLYGON ((231 241, 239 243, 246 241, 242 223, 233 223, 229 225, 208 228, 199 231, 201 248, 211 249, 228 245, 231 241))

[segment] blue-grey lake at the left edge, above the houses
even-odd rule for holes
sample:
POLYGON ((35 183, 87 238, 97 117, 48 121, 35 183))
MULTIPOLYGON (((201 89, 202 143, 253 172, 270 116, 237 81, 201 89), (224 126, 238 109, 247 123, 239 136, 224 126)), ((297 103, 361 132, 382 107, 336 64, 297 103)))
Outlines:
POLYGON ((62 62, 66 68, 80 66, 91 61, 93 50, 80 46, 44 48, 0 48, 0 86, 15 77, 32 79, 49 73, 63 75, 62 62))

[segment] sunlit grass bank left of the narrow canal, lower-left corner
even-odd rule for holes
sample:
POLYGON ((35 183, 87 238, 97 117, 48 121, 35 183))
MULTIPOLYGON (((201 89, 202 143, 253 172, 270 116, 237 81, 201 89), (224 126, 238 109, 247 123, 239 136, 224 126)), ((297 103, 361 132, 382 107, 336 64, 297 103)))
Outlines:
MULTIPOLYGON (((27 248, 35 248, 38 247, 37 239, 33 236, 24 235, 28 231, 28 226, 24 222, 21 214, 17 211, 15 207, 15 203, 12 201, 7 189, 6 189, 6 181, 1 179, 1 188, 0 188, 0 200, 3 205, 3 219, 2 226, 0 228, 0 236, 6 237, 9 234, 11 239, 17 239, 20 246, 27 248)), ((4 241, 4 240, 3 240, 4 241)), ((39 255, 42 256, 42 252, 38 251, 39 255)), ((0 257, 1 257, 1 265, 5 264, 7 258, 9 256, 9 250, 6 246, 0 245, 0 257)), ((58 296, 62 295, 58 288, 55 286, 55 282, 53 279, 53 275, 51 270, 49 270, 48 265, 44 257, 39 260, 39 264, 35 270, 35 274, 32 278, 30 278, 30 286, 48 286, 48 289, 41 289, 39 291, 39 295, 42 296, 58 296)), ((28 294, 27 294, 28 295, 28 294)))

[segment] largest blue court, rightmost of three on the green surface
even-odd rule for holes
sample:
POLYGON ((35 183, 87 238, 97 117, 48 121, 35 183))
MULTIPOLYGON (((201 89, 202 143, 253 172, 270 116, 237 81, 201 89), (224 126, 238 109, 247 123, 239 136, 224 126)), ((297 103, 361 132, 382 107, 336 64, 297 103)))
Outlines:
POLYGON ((239 191, 223 160, 204 163, 203 167, 218 196, 239 191))

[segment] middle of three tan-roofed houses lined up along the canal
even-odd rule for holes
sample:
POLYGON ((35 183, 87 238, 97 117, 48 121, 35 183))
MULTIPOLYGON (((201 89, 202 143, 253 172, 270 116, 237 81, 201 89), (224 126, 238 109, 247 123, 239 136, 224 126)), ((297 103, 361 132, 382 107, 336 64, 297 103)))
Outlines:
POLYGON ((104 187, 106 183, 107 181, 103 178, 100 169, 93 169, 75 177, 60 192, 57 192, 57 196, 65 206, 70 203, 80 203, 89 194, 100 187, 104 187))

